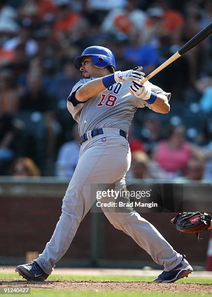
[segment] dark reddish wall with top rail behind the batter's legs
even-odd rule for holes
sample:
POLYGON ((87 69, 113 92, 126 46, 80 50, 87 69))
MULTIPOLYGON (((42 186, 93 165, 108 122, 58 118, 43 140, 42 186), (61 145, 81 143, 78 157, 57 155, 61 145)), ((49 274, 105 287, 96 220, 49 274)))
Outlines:
MULTIPOLYGON (((0 264, 23 263, 27 251, 42 252, 61 214, 69 181, 56 177, 0 177, 0 264)), ((204 266, 210 233, 202 233, 200 245, 193 234, 179 237, 169 220, 173 212, 182 210, 212 212, 211 186, 206 181, 131 180, 127 189, 151 189, 154 198, 159 193, 160 208, 142 210, 142 216, 165 234, 176 250, 186 253, 193 264, 204 266)), ((58 263, 58 266, 135 268, 146 265, 159 267, 129 236, 114 229, 104 214, 92 211, 82 221, 76 239, 58 263)))

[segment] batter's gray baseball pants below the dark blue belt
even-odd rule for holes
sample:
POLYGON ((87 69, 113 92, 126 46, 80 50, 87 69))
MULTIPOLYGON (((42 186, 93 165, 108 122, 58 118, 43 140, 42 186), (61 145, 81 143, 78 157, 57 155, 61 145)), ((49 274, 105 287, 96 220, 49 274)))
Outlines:
MULTIPOLYGON (((35 259, 47 274, 51 274, 55 263, 69 248, 80 222, 95 201, 95 197, 91 197, 91 184, 115 183, 116 188, 125 188, 125 173, 131 162, 129 144, 119 135, 119 129, 103 128, 103 131, 104 134, 81 146, 78 164, 62 200, 60 219, 43 253, 35 259)), ((136 212, 105 212, 105 215, 115 228, 131 236, 145 249, 154 262, 164 265, 165 271, 181 263, 182 255, 136 212)))

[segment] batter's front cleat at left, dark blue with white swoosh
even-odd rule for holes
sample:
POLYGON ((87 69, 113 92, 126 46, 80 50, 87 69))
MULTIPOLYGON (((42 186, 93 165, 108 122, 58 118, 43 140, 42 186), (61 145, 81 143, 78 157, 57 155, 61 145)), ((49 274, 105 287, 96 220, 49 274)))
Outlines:
POLYGON ((35 262, 18 265, 15 268, 15 272, 18 272, 20 276, 28 281, 45 281, 49 276, 49 274, 45 273, 35 262))

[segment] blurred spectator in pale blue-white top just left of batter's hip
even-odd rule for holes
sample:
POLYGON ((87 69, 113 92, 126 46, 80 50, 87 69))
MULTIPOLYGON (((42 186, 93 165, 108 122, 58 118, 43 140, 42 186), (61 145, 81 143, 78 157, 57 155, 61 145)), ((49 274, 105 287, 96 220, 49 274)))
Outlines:
POLYGON ((66 142, 59 150, 56 161, 56 176, 72 177, 79 159, 79 132, 76 123, 72 129, 73 140, 66 142))

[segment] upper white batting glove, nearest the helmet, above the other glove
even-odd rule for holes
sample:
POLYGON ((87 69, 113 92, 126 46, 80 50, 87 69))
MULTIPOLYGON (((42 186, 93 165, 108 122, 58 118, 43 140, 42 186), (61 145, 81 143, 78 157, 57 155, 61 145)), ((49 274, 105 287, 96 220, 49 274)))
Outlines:
POLYGON ((116 71, 114 73, 114 80, 116 82, 139 81, 144 78, 145 73, 141 72, 143 67, 137 66, 127 71, 116 71))

